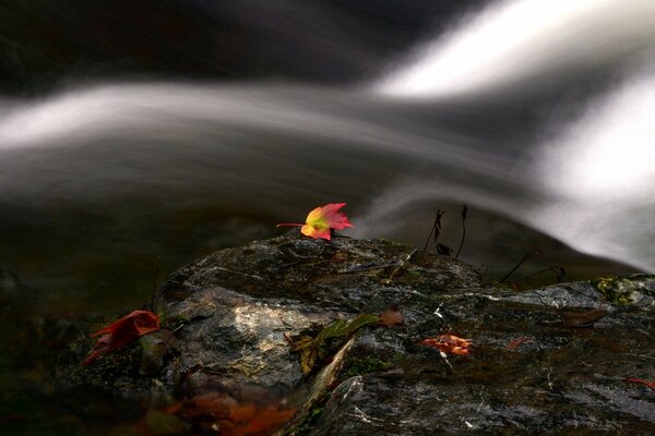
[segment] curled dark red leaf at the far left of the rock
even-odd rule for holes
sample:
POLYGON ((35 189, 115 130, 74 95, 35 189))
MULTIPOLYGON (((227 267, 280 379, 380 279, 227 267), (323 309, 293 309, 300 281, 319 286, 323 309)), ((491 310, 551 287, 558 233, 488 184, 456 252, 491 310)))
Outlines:
POLYGON ((150 311, 134 311, 91 335, 92 338, 99 338, 82 364, 86 366, 98 356, 158 329, 159 317, 156 314, 150 311))

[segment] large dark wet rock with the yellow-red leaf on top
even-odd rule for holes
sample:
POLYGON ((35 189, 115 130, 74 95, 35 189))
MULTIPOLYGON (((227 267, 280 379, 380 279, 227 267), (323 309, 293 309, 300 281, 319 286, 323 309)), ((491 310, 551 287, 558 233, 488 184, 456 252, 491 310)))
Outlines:
POLYGON ((653 276, 516 292, 449 257, 293 230, 163 283, 157 308, 177 342, 154 370, 140 371, 139 343, 80 367, 91 347, 81 342, 63 348, 50 385, 69 410, 97 417, 117 404, 126 419, 153 404, 172 413, 182 401, 178 434, 199 415, 194 432, 207 434, 655 434, 655 390, 627 380, 655 380, 654 298, 653 276), (390 307, 402 325, 362 327, 302 372, 294 338, 390 307), (472 339, 471 354, 419 343, 446 332, 472 339), (201 410, 207 401, 267 413, 254 420, 298 412, 284 429, 236 433, 212 423, 221 416, 201 410))

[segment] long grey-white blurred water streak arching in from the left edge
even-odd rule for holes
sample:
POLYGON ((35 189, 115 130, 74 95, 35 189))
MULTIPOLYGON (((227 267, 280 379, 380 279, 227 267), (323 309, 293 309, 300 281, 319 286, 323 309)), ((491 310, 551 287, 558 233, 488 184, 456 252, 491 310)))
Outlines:
POLYGON ((203 190, 224 190, 226 205, 251 198, 249 205, 272 211, 281 197, 287 205, 315 194, 329 199, 330 192, 364 197, 371 190, 361 186, 421 165, 504 178, 507 157, 439 125, 402 119, 402 111, 320 87, 169 83, 71 90, 5 111, 0 194, 32 203, 153 187, 157 195, 175 185, 198 191, 199 199, 203 190))

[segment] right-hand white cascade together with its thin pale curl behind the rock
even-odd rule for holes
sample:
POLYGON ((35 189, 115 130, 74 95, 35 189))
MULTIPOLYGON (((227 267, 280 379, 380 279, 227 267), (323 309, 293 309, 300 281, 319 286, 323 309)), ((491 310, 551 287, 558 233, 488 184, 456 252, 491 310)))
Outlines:
POLYGON ((505 167, 507 180, 514 177, 516 184, 495 189, 407 178, 379 195, 358 222, 392 233, 404 226, 403 211, 407 215, 416 204, 467 202, 583 253, 655 271, 653 120, 655 74, 646 72, 596 98, 579 119, 553 121, 553 137, 527 144, 532 159, 523 171, 505 167), (517 186, 522 180, 527 183, 523 189, 517 186))

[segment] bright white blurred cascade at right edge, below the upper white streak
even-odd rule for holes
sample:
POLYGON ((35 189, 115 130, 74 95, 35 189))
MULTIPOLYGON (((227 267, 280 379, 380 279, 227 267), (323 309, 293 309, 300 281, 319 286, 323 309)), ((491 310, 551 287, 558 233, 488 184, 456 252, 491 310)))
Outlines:
POLYGON ((655 266, 655 74, 627 81, 535 153, 552 198, 534 226, 579 250, 655 266))

